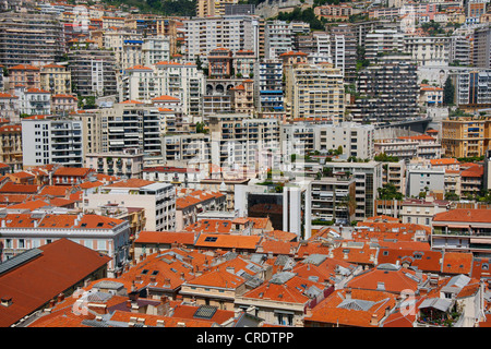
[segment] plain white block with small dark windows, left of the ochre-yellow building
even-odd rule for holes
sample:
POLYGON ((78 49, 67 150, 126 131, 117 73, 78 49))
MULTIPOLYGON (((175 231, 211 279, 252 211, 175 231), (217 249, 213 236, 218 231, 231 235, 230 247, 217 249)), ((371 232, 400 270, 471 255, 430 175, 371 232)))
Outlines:
POLYGON ((337 124, 316 124, 314 146, 316 151, 336 151, 343 147, 348 157, 371 159, 374 156, 375 128, 370 124, 340 122, 337 124))

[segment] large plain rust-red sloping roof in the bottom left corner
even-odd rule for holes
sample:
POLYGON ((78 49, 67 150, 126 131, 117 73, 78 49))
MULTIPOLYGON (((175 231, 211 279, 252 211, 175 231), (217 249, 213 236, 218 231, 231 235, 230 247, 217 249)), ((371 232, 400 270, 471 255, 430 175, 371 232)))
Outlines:
POLYGON ((1 327, 38 310, 110 261, 68 239, 56 240, 38 250, 39 256, 0 275, 1 297, 12 298, 12 305, 0 308, 1 327))

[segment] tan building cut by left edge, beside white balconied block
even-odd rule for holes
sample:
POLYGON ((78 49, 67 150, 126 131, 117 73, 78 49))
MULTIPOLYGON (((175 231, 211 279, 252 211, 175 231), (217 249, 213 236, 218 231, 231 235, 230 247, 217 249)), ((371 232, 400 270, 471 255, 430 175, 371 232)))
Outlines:
POLYGON ((12 171, 22 170, 22 127, 3 124, 0 127, 0 163, 9 165, 12 171))

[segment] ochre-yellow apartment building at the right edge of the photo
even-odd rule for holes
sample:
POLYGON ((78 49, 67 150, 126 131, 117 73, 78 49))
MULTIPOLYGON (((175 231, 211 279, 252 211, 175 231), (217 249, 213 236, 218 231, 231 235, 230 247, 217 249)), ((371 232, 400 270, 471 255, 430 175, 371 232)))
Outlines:
POLYGON ((442 147, 446 156, 484 155, 490 142, 490 118, 460 117, 442 121, 442 147))

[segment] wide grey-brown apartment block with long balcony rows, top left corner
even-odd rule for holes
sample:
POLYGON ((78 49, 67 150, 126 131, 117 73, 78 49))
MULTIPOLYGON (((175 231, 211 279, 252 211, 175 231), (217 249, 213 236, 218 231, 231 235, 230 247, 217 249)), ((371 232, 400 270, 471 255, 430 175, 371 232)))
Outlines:
POLYGON ((63 27, 56 15, 26 12, 0 14, 0 64, 7 68, 46 65, 55 62, 63 51, 63 27))

